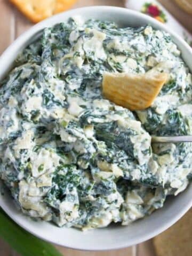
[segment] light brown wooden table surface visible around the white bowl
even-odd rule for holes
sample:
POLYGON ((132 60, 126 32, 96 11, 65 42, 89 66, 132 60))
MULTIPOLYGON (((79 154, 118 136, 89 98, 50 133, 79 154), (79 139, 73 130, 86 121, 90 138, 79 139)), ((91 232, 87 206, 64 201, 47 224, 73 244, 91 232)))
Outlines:
MULTIPOLYGON (((41 0, 39 0, 41 1, 41 0)), ((137 1, 137 0, 135 0, 137 1)), ((192 32, 192 17, 186 14, 173 0, 159 0, 189 31, 192 32)), ((114 5, 124 6, 123 0, 79 0, 75 7, 90 5, 114 5)), ((23 31, 32 26, 19 11, 17 11, 9 0, 0 0, 0 54, 17 38, 23 31)), ((85 252, 70 250, 60 246, 58 249, 66 256, 155 256, 152 241, 141 243, 126 249, 105 251, 105 252, 85 252)), ((19 256, 9 245, 0 239, 0 256, 19 256)), ((41 255, 34 255, 41 256, 41 255)), ((176 255, 175 255, 176 256, 176 255)))

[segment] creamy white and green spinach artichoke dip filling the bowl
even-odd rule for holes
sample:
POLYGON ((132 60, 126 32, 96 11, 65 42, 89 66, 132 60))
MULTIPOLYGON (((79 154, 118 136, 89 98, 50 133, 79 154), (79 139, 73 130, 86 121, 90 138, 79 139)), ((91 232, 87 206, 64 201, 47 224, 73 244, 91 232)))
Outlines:
MULTIPOLYGON (((143 218, 190 179, 191 143, 151 135, 192 130, 191 74, 169 34, 99 20, 45 28, 0 88, 0 177, 22 212, 83 230, 143 218), (102 74, 169 81, 146 110, 102 97, 102 74)), ((132 92, 130 92, 132 93, 132 92)))

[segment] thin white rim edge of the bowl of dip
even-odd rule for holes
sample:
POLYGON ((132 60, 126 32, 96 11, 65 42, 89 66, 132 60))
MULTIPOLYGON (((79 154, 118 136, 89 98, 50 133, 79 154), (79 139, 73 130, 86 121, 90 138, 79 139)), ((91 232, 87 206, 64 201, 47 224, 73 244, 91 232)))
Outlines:
MULTIPOLYGON (((31 27, 30 29, 28 29, 25 33, 22 33, 17 39, 15 39, 15 41, 9 46, 7 47, 7 49, 2 53, 1 57, 0 57, 0 66, 1 66, 1 71, 0 71, 0 76, 3 77, 7 71, 10 70, 10 64, 8 65, 4 65, 4 63, 6 62, 10 62, 11 57, 7 57, 10 55, 10 52, 12 51, 16 51, 17 49, 20 51, 22 48, 25 48, 28 45, 28 41, 30 40, 31 37, 34 36, 38 37, 39 33, 41 33, 41 30, 45 27, 49 27, 49 26, 53 26, 55 23, 58 23, 58 19, 61 18, 62 21, 62 17, 65 17, 66 15, 75 15, 76 12, 81 13, 81 11, 94 11, 94 12, 113 12, 113 11, 117 11, 119 13, 119 15, 121 15, 122 13, 127 13, 127 14, 132 14, 134 15, 135 19, 144 19, 146 22, 151 23, 151 26, 157 26, 159 29, 162 29, 164 31, 166 31, 167 33, 171 34, 171 36, 173 36, 173 41, 178 41, 180 42, 180 44, 183 46, 184 49, 187 49, 187 51, 192 55, 192 50, 190 48, 190 46, 187 44, 187 42, 184 41, 184 39, 182 39, 180 36, 178 36, 177 34, 175 34, 173 31, 171 31, 171 29, 165 27, 165 25, 163 23, 158 22, 157 20, 155 20, 154 18, 149 17, 146 14, 142 14, 140 12, 137 11, 133 11, 133 10, 129 10, 123 7, 115 7, 115 6, 88 6, 88 7, 81 7, 81 8, 77 8, 77 9, 73 9, 73 10, 69 10, 67 12, 62 12, 56 15, 53 15, 53 17, 51 18, 47 18, 39 23, 37 23, 36 25, 34 25, 33 27, 31 27), (27 43, 27 44, 26 44, 27 43), (22 47, 21 47, 22 46, 22 47), (9 67, 7 67, 9 66, 9 67)), ((176 43, 177 44, 177 43, 176 43)), ((182 50, 181 50, 182 51, 182 50)), ((1 78, 2 79, 2 78, 1 78)), ((0 181, 1 183, 1 181, 0 181)), ((188 188, 189 189, 189 188, 188 188)), ((0 196, 1 198, 1 196, 0 196)), ((141 236, 137 239, 135 239, 134 243, 131 242, 123 242, 121 243, 121 245, 119 244, 119 246, 117 245, 111 245, 110 247, 103 245, 103 247, 101 249, 98 249, 97 247, 90 247, 89 245, 85 246, 69 246, 67 245, 67 242, 64 243, 57 243, 54 241, 55 244, 61 245, 61 246, 65 246, 65 247, 69 247, 72 249, 76 249, 76 250, 90 250, 90 251, 100 251, 100 250, 115 250, 115 249, 122 249, 124 247, 127 246, 131 246, 134 244, 138 244, 141 243, 143 241, 146 241, 154 236, 156 236, 157 234, 161 233, 162 231, 164 231, 165 229, 169 228, 170 226, 172 226, 177 220, 179 220, 182 215, 184 215, 192 206, 192 198, 190 199, 190 201, 188 203, 186 203, 185 205, 183 205, 182 209, 175 213, 175 215, 172 217, 172 219, 167 223, 164 222, 163 225, 159 226, 158 228, 154 229, 151 233, 146 234, 145 236, 141 236)), ((34 230, 31 230, 30 228, 28 228, 28 226, 23 225, 22 220, 18 221, 17 217, 14 216, 14 214, 12 214, 12 212, 10 211, 9 207, 6 207, 6 205, 1 205, 2 209, 10 216, 10 218, 12 218, 15 222, 17 222, 22 228, 26 229, 27 231, 29 231, 31 234, 44 239, 48 242, 53 242, 51 239, 47 239, 42 235, 37 234, 34 230)))

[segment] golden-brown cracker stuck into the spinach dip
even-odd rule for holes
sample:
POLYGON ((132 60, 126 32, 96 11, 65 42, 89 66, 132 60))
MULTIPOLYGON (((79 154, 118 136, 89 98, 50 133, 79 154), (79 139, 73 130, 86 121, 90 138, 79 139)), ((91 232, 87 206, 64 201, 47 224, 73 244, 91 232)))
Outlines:
POLYGON ((153 69, 145 74, 104 73, 102 92, 117 105, 142 110, 151 106, 167 78, 166 73, 153 69))

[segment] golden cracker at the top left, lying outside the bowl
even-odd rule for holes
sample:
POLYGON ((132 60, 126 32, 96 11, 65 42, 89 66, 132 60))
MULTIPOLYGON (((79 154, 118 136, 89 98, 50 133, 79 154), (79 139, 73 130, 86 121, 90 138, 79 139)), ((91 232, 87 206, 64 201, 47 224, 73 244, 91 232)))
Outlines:
POLYGON ((34 23, 68 10, 77 0, 10 0, 34 23))

